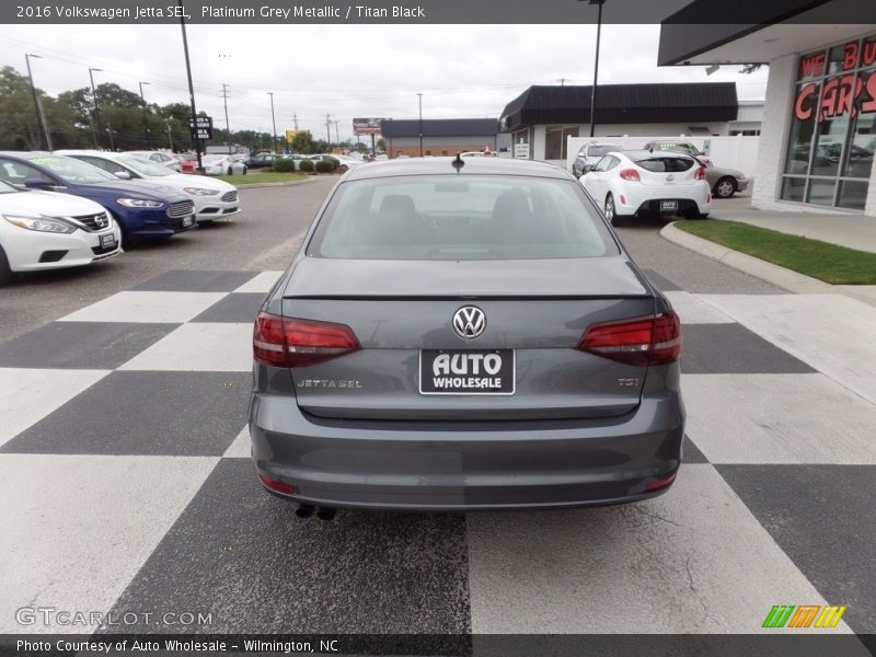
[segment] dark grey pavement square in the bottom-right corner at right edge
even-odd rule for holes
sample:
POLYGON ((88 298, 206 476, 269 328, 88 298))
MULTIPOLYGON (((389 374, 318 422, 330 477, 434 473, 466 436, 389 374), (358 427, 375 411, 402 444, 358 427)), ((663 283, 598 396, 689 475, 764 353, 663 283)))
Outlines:
POLYGON ((876 633, 876 465, 716 468, 828 603, 849 607, 852 630, 876 633))

